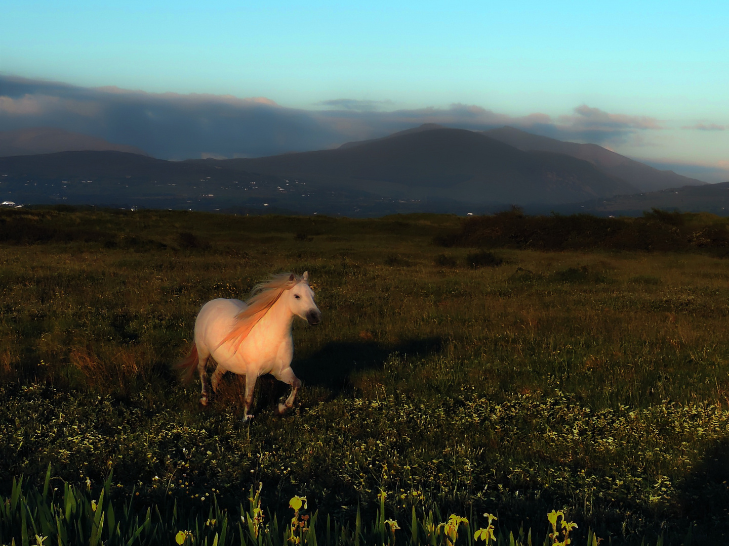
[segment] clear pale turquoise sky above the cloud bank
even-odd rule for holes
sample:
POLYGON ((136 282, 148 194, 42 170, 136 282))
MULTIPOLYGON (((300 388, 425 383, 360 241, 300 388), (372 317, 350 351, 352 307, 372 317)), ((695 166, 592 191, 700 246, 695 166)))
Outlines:
POLYGON ((4 76, 554 124, 588 106, 655 121, 601 142, 620 153, 729 168, 725 1, 1 0, 0 12, 4 76))

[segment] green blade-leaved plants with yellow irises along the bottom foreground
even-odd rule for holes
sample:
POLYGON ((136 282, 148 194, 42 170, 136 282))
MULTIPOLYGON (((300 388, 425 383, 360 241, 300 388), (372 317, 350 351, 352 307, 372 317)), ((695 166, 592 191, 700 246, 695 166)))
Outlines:
MULTIPOLYGON (((484 514, 486 527, 478 526, 478 518, 451 514, 445 521, 437 507, 419 511, 412 507, 408 521, 385 518, 386 493, 379 494, 379 507, 372 521, 363 521, 357 510, 353 524, 342 524, 329 516, 319 517, 308 510, 305 497, 289 500, 289 513, 278 514, 261 505, 260 486, 250 488, 246 507, 234 510, 221 508, 213 494, 206 506, 180 510, 176 502, 135 510, 133 497, 126 502, 112 500, 111 477, 98 491, 63 483, 63 490, 52 488, 50 467, 42 491, 13 480, 8 497, 0 496, 0 543, 17 546, 42 545, 47 540, 61 546, 133 545, 251 545, 284 546, 319 545, 434 545, 455 546, 480 544, 494 546, 567 545, 574 543, 576 523, 566 520, 564 511, 547 514, 551 532, 532 533, 519 529, 504 533, 494 515, 484 514), (286 521, 288 516, 290 521, 286 521), (279 518, 279 516, 281 516, 279 518), (475 531, 474 531, 475 530, 475 531), (543 539, 537 537, 543 535, 543 539)), ((690 531, 689 531, 690 533, 690 531)), ((690 537, 690 534, 688 535, 690 537)), ((541 537, 540 537, 541 538, 541 537)), ((597 546, 601 539, 588 529, 587 546, 597 546)), ((663 539, 656 542, 663 544, 663 539)))

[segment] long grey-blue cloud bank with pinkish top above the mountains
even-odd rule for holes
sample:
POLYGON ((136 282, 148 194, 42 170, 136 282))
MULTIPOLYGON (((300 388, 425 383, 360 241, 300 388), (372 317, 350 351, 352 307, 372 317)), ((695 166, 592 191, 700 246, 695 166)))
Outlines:
POLYGON ((393 110, 389 100, 339 98, 319 106, 326 108, 286 108, 262 97, 150 93, 0 76, 0 130, 58 127, 164 159, 325 149, 424 123, 469 130, 511 125, 559 140, 608 146, 663 128, 651 117, 613 114, 588 105, 556 118, 539 112, 509 116, 462 103, 393 110))

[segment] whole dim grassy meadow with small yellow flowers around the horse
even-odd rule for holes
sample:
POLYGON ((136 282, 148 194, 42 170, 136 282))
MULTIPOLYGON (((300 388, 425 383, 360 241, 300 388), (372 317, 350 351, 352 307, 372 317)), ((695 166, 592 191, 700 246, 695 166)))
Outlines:
MULTIPOLYGON (((726 224, 653 214, 635 240, 688 243, 537 250, 450 215, 1 211, 0 543, 32 544, 11 511, 43 489, 61 512, 69 488, 128 518, 156 507, 174 544, 198 515, 253 521, 259 487, 271 524, 305 496, 340 526, 327 544, 385 516, 401 530, 371 541, 435 544, 428 521, 451 513, 552 544, 551 510, 572 544, 729 542, 726 224), (323 313, 294 326, 294 410, 276 415, 286 389, 264 377, 243 422, 231 374, 201 408, 171 369, 195 314, 281 271, 308 271, 323 313)), ((134 543, 113 529, 98 543, 134 543)))

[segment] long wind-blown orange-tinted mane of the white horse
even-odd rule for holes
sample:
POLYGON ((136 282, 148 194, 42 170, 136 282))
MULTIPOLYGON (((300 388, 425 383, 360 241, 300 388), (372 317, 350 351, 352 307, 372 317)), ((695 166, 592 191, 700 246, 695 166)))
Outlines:
POLYGON ((302 280, 303 277, 293 273, 278 273, 255 285, 251 296, 246 300, 246 309, 235 315, 233 330, 225 336, 218 347, 233 339, 231 348, 233 352, 238 351, 243 340, 278 301, 284 290, 291 290, 302 280))

